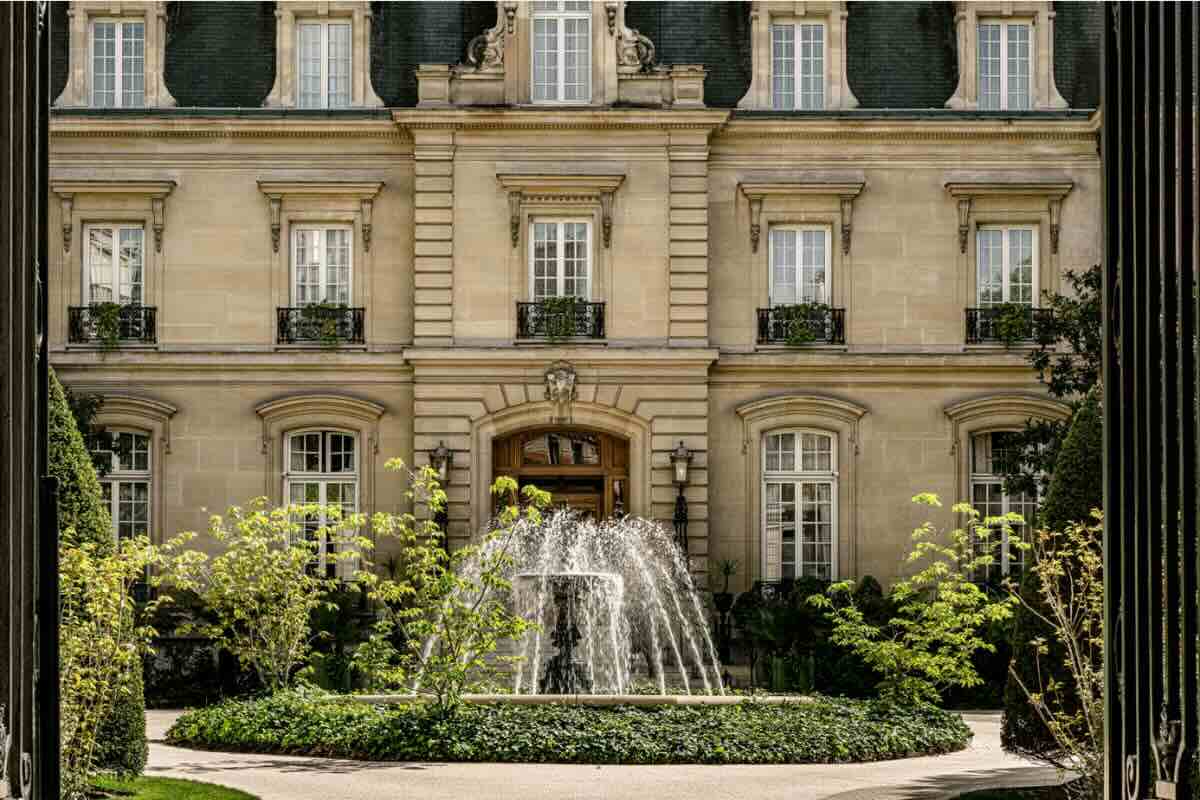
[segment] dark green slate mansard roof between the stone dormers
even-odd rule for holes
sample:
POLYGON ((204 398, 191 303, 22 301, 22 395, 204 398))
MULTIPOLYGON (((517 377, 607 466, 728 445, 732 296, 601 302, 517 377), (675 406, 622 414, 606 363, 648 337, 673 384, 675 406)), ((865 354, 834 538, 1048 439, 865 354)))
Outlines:
MULTIPOLYGON (((371 79, 385 106, 416 104, 420 64, 458 64, 496 23, 491 0, 373 2, 371 79)), ((848 2, 846 68, 863 109, 942 109, 958 85, 949 2, 848 2)), ((1056 2, 1055 74, 1072 108, 1099 102, 1099 2, 1056 2)), ((66 4, 52 4, 52 91, 67 78, 66 4)), ((626 24, 662 65, 702 64, 704 101, 733 108, 750 85, 750 4, 630 0, 626 24)), ((168 4, 166 82, 180 107, 257 108, 275 82, 274 2, 168 4)), ((943 112, 952 113, 952 112, 943 112)))

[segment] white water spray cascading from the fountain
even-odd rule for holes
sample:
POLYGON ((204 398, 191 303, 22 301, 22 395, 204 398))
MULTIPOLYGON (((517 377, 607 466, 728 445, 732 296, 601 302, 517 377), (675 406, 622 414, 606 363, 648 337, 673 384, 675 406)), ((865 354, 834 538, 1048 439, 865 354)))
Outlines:
POLYGON ((659 524, 556 511, 493 547, 514 554, 514 610, 539 622, 515 651, 514 691, 612 694, 644 675, 667 693, 722 693, 720 664, 683 553, 659 524))

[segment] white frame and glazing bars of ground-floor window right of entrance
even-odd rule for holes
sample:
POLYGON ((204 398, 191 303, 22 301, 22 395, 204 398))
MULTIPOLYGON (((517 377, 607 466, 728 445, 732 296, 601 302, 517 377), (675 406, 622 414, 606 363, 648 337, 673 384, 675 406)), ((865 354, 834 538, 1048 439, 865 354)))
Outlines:
MULTIPOLYGON (((791 564, 793 565, 793 577, 791 579, 799 581, 808 576, 803 567, 806 561, 803 559, 803 510, 802 504, 802 486, 809 485, 828 485, 829 487, 829 564, 828 564, 828 579, 838 579, 838 434, 833 431, 824 431, 821 428, 778 428, 773 431, 767 431, 762 434, 762 461, 760 463, 760 494, 761 494, 761 515, 760 515, 760 536, 762 537, 762 564, 761 575, 767 581, 775 579, 788 579, 784 578, 784 542, 782 531, 780 531, 779 541, 779 576, 778 578, 772 575, 770 567, 770 536, 768 533, 768 519, 769 519, 769 507, 768 501, 768 483, 792 483, 794 486, 794 506, 796 506, 796 519, 793 524, 796 525, 796 542, 794 551, 791 564), (769 441, 772 437, 791 434, 796 437, 796 463, 793 463, 794 469, 792 470, 768 470, 767 458, 769 455, 769 441), (824 437, 829 440, 829 469, 828 470, 804 470, 800 463, 800 441, 804 434, 812 434, 818 437, 824 437)), ((782 522, 780 522, 780 528, 782 528, 782 522)), ((817 577, 817 576, 812 576, 817 577)))

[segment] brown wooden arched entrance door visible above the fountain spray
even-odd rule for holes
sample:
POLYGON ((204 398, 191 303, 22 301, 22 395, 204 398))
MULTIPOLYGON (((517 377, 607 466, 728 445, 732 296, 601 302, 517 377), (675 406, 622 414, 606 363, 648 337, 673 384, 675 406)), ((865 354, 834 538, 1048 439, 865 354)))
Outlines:
POLYGON ((492 476, 534 485, 584 516, 629 507, 629 439, 582 426, 526 428, 492 441, 492 476))

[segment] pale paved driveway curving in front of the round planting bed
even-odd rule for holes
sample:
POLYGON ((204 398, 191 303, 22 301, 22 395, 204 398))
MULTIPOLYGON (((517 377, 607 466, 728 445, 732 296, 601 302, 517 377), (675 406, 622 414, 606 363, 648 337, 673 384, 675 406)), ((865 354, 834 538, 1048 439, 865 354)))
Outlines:
POLYGON ((210 781, 263 800, 936 800, 1036 786, 1054 770, 1000 747, 1000 715, 965 715, 974 740, 950 756, 796 766, 587 766, 378 763, 212 753, 162 744, 178 711, 149 711, 149 775, 210 781))

